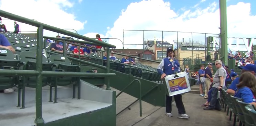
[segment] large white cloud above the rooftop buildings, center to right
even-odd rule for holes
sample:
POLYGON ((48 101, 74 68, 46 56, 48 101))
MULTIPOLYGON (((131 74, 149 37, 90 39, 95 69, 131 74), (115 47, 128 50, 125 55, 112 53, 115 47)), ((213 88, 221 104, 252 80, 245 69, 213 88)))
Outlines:
MULTIPOLYGON (((193 5, 192 5, 193 6, 193 5)), ((239 2, 227 7, 228 37, 254 37, 256 31, 256 16, 250 14, 250 3, 239 2)), ((186 10, 183 14, 175 13, 170 8, 169 2, 163 0, 148 0, 128 5, 122 10, 121 15, 115 21, 114 27, 110 28, 106 37, 123 39, 123 29, 136 30, 164 30, 164 31, 187 31, 198 33, 220 33, 220 12, 218 3, 211 3, 209 7, 186 10)), ((144 39, 153 40, 154 36, 162 40, 162 32, 144 31, 144 39)), ((206 34, 207 36, 211 36, 206 34)), ((191 33, 178 33, 178 40, 192 40, 191 33)), ((177 39, 175 32, 163 32, 164 41, 177 39)), ((205 43, 205 34, 193 34, 193 41, 205 43)), ((110 44, 122 48, 118 40, 109 40, 110 44)), ((142 31, 124 31, 124 43, 142 44, 142 31)), ((125 48, 139 48, 141 45, 125 45, 125 48)))

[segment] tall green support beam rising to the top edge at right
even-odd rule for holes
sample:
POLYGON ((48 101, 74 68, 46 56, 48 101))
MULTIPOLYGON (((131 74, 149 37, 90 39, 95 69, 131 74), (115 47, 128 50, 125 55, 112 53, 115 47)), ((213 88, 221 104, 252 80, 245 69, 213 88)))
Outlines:
POLYGON ((220 25, 221 25, 221 61, 227 64, 227 0, 220 0, 220 25))

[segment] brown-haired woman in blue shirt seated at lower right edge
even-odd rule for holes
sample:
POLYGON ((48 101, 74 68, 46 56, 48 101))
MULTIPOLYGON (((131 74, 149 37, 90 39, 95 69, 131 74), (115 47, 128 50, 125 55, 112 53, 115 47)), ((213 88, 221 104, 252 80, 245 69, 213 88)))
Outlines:
POLYGON ((256 78, 250 72, 245 72, 239 79, 239 84, 236 85, 237 90, 234 97, 243 99, 243 102, 256 106, 256 78))

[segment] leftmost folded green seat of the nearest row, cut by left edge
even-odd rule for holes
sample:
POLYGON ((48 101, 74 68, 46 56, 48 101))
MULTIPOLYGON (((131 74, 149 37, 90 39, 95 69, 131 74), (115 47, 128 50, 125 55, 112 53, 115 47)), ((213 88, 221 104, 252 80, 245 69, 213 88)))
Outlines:
MULTIPOLYGON (((0 69, 19 70, 20 60, 17 60, 10 50, 0 48, 0 69)), ((18 76, 0 76, 0 90, 12 88, 18 85, 18 76)))

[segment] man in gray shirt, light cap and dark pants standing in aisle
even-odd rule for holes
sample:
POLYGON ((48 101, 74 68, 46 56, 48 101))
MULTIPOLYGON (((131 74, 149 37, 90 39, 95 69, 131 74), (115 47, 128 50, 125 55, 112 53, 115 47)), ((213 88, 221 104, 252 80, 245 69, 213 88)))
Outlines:
POLYGON ((217 99, 218 91, 222 89, 222 87, 225 86, 225 80, 227 77, 227 72, 225 68, 223 68, 222 62, 220 60, 215 61, 215 66, 217 68, 217 71, 213 78, 213 86, 211 88, 212 90, 212 99, 211 104, 208 108, 204 108, 204 110, 221 110, 221 105, 217 99))

